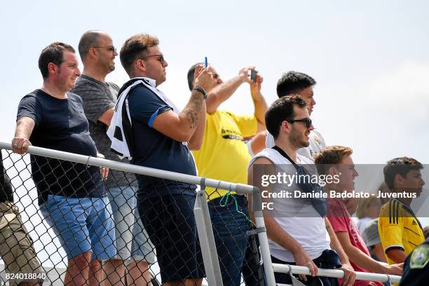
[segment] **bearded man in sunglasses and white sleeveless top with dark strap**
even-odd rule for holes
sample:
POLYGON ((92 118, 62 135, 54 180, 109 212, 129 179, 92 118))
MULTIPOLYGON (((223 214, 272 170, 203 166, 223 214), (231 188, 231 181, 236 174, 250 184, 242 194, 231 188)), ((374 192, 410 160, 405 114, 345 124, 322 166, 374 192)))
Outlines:
MULTIPOLYGON (((314 129, 306 102, 299 95, 280 97, 268 108, 265 118, 268 132, 275 138, 275 149, 266 148, 252 159, 247 183, 261 185, 266 175, 296 175, 292 161, 304 164, 306 170, 314 169, 313 161, 297 154, 299 149, 308 147, 309 135, 314 129), (263 175, 261 168, 264 168, 263 175)), ((289 183, 280 182, 280 179, 270 181, 268 185, 262 184, 261 191, 268 190, 268 193, 278 195, 282 191, 294 193, 301 189, 294 180, 289 183)), ((266 193, 265 196, 262 194, 265 199, 266 193)), ((264 215, 264 221, 273 263, 307 266, 311 276, 300 275, 306 285, 338 285, 336 279, 312 276, 318 274, 318 267, 340 268, 345 273, 343 285, 353 285, 355 273, 348 257, 326 217, 314 207, 314 201, 292 195, 292 198, 271 196, 270 202, 272 215, 264 215)), ((275 273, 275 280, 287 284, 292 282, 285 273, 275 273)))

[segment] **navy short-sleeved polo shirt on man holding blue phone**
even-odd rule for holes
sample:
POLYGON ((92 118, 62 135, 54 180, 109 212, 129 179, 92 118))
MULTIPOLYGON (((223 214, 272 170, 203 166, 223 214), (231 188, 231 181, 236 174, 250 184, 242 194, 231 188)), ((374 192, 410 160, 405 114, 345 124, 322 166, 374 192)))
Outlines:
MULTIPOLYGON (((128 93, 132 129, 132 161, 135 165, 196 175, 188 147, 158 132, 152 125, 156 116, 172 110, 158 95, 143 85, 128 93)), ((139 197, 164 196, 168 193, 195 195, 196 185, 137 175, 139 197)))

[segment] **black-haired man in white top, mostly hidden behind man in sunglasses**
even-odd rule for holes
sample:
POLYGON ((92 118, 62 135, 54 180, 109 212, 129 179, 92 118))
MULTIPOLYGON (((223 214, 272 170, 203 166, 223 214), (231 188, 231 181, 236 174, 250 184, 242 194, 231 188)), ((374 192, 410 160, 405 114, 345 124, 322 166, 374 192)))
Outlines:
MULTIPOLYGON (((307 74, 298 71, 288 71, 282 74, 277 82, 277 95, 283 97, 286 95, 300 95, 307 104, 308 114, 311 115, 316 102, 314 100, 313 86, 316 81, 307 74)), ((314 154, 326 147, 325 139, 318 130, 311 130, 308 136, 309 145, 298 150, 298 154, 314 161, 314 154)), ((267 134, 265 145, 267 148, 274 146, 274 138, 270 133, 267 134)))

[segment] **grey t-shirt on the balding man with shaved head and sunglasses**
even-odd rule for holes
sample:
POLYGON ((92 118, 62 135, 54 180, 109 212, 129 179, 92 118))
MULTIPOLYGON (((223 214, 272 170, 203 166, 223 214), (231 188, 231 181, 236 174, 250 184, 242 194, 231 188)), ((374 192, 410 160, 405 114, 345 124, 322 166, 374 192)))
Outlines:
MULTIPOLYGON (((115 107, 118 97, 119 87, 114 83, 102 83, 90 76, 82 74, 76 81, 76 86, 71 90, 83 100, 83 110, 89 122, 90 135, 97 146, 99 153, 103 154, 108 160, 130 163, 126 158, 119 158, 117 154, 111 151, 111 141, 107 137, 107 125, 98 120, 104 112, 115 107)), ((106 184, 109 188, 114 186, 136 185, 135 175, 132 173, 118 170, 109 171, 106 184)))

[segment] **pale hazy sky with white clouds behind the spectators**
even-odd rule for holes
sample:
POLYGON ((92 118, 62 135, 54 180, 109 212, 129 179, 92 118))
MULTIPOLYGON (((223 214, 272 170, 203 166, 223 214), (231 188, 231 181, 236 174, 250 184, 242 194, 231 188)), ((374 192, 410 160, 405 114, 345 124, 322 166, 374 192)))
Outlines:
MULTIPOLYGON (((428 1, 6 1, 0 140, 13 137, 20 98, 41 86, 41 49, 77 48, 83 32, 103 29, 118 48, 132 34, 158 36, 169 63, 159 88, 179 106, 187 69, 205 56, 224 79, 256 65, 268 103, 282 72, 303 71, 318 81, 312 118, 328 144, 352 147, 356 163, 429 163, 428 11, 428 1)), ((127 80, 118 57, 108 79, 127 80)), ((222 108, 252 113, 248 87, 222 108)))

